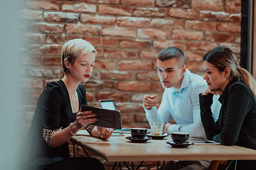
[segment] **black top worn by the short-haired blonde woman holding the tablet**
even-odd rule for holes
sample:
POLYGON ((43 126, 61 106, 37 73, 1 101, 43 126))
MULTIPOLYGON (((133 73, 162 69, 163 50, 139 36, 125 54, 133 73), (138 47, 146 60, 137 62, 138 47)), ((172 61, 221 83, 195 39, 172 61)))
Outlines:
MULTIPOLYGON (((87 105, 86 90, 79 85, 77 89, 79 106, 87 105)), ((49 147, 43 137, 43 129, 56 130, 67 128, 76 120, 72 112, 68 89, 62 80, 47 84, 38 98, 36 111, 33 116, 31 128, 28 130, 24 145, 27 145, 26 162, 28 164, 48 164, 49 159, 60 161, 62 157, 70 157, 68 142, 55 148, 49 147), (42 159, 43 158, 43 159, 42 159), (43 161, 44 160, 44 161, 43 161)))

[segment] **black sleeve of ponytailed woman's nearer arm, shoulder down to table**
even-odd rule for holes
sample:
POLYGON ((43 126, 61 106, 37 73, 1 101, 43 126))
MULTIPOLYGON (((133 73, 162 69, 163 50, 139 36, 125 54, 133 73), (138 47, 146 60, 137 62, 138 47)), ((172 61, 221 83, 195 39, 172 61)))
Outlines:
POLYGON ((213 140, 223 145, 235 145, 245 115, 248 113, 250 93, 244 84, 233 84, 228 89, 227 101, 227 110, 222 131, 218 135, 215 135, 213 140))

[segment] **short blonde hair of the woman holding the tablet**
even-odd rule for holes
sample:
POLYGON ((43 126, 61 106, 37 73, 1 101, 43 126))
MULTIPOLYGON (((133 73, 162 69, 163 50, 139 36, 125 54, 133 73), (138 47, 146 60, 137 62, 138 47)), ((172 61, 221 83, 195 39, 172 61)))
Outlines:
POLYGON ((81 38, 69 40, 65 42, 61 49, 61 64, 63 66, 63 71, 66 73, 67 68, 65 67, 65 60, 67 60, 71 65, 74 64, 75 60, 82 55, 90 54, 91 52, 97 53, 95 47, 81 38))

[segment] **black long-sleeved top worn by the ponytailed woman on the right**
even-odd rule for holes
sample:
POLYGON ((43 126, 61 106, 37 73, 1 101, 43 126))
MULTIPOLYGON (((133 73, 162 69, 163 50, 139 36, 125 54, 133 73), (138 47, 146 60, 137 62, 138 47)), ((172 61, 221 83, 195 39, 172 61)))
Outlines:
MULTIPOLYGON (((249 86, 238 79, 228 83, 219 98, 222 106, 216 122, 210 111, 213 94, 199 94, 199 100, 203 128, 208 140, 220 142, 222 145, 256 149, 256 100, 249 86)), ((250 164, 256 167, 256 161, 250 161, 250 164)))

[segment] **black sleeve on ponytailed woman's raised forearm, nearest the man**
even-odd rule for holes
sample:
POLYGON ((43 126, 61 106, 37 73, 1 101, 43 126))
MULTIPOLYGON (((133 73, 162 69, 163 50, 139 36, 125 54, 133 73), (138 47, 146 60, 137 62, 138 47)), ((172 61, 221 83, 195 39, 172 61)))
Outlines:
POLYGON ((213 94, 202 95, 199 94, 200 110, 201 110, 201 120, 203 128, 206 132, 206 137, 208 140, 213 140, 213 136, 220 133, 220 128, 218 128, 218 123, 215 123, 213 119, 213 113, 210 110, 210 106, 213 103, 213 94))

